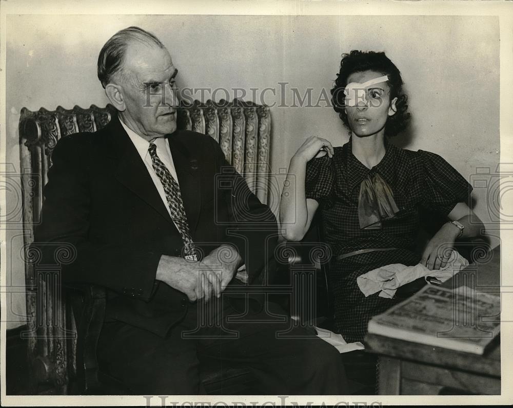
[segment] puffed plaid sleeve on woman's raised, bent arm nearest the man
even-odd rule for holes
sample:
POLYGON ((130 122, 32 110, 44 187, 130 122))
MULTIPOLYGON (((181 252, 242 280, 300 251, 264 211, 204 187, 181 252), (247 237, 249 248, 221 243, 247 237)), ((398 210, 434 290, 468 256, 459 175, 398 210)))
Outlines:
POLYGON ((305 193, 306 198, 319 202, 331 202, 330 198, 335 181, 332 160, 328 156, 312 159, 306 166, 305 193))

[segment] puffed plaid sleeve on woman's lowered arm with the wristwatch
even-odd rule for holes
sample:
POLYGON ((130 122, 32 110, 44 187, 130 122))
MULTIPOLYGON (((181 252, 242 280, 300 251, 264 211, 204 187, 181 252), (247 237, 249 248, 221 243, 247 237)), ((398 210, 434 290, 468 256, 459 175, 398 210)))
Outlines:
POLYGON ((448 215, 458 202, 467 202, 472 186, 441 156, 419 150, 424 171, 423 205, 448 215))

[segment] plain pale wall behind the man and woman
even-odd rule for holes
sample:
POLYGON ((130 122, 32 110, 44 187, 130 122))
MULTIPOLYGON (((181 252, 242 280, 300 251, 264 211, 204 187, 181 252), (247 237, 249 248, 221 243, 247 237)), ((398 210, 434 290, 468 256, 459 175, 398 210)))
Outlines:
MULTIPOLYGON (((328 92, 341 54, 385 51, 399 67, 413 115, 395 143, 442 155, 465 178, 486 167, 495 173, 499 139, 499 21, 473 16, 183 16, 8 15, 6 66, 7 162, 12 188, 7 215, 19 217, 19 142, 22 107, 37 110, 105 106, 96 59, 117 30, 137 25, 156 34, 179 69, 179 86, 276 89, 270 105, 290 104, 297 88, 312 88, 315 103, 328 92), (285 100, 280 82, 286 82, 285 100)), ((282 85, 283 87, 284 85, 282 85)), ((218 92, 218 98, 224 97, 218 92)), ((199 95, 198 95, 199 96, 199 95)), ((257 100, 255 102, 261 102, 257 100)), ((340 146, 348 132, 331 107, 271 107, 271 171, 284 172, 310 135, 340 146)), ((280 178, 281 177, 281 178, 280 178)), ((271 190, 278 191, 278 189, 271 190)), ((275 209, 278 198, 271 197, 275 209)), ((472 193, 476 213, 490 224, 487 190, 472 193)), ((25 322, 21 225, 7 231, 7 327, 25 322)))

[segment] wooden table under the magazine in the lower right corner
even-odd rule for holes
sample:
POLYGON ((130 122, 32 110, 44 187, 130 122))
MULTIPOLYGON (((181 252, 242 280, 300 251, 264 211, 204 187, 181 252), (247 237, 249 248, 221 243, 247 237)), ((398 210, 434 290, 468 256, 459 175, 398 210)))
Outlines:
MULTIPOLYGON (((500 293, 500 248, 469 265, 443 286, 462 284, 500 293)), ((483 356, 368 334, 366 349, 380 355, 380 395, 501 394, 499 337, 483 356)))

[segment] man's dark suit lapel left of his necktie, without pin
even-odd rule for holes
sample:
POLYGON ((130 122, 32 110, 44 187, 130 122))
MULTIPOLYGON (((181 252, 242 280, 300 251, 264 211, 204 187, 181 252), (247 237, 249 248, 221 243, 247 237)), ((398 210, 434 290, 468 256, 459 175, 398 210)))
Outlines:
MULTIPOLYGON (((108 153, 117 159, 115 177, 134 194, 146 201, 157 213, 162 215, 173 227, 174 222, 169 216, 148 169, 135 149, 130 137, 125 132, 119 119, 113 118, 105 128, 107 140, 110 141, 108 153)), ((176 228, 176 227, 175 227, 176 228)))

